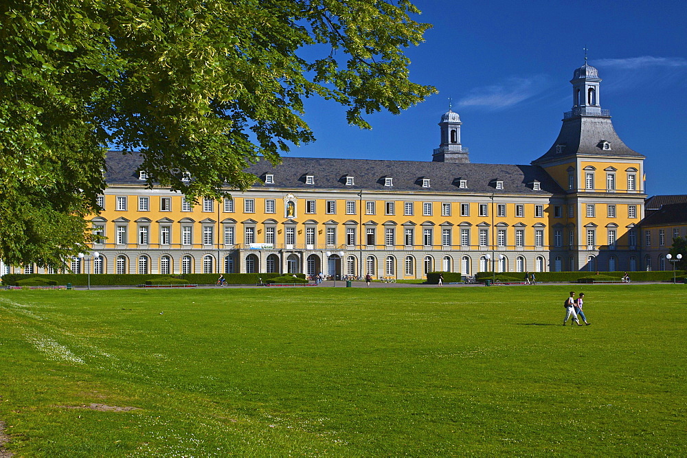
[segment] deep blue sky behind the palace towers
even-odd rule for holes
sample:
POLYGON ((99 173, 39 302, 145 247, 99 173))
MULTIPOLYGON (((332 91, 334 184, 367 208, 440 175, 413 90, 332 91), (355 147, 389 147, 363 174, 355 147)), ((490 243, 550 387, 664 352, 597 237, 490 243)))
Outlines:
POLYGON ((348 126, 343 108, 309 100, 313 144, 287 156, 431 161, 453 100, 473 163, 528 164, 554 142, 572 107, 572 73, 602 78, 600 104, 620 138, 646 155, 646 190, 687 194, 687 2, 416 0, 431 23, 407 50, 411 79, 439 93, 401 115, 348 126))

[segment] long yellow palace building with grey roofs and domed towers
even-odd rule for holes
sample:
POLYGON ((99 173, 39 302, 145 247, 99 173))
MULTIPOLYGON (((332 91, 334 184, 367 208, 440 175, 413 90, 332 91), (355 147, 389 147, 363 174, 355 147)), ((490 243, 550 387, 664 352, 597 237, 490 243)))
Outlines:
POLYGON ((110 152, 91 272, 640 270, 644 156, 613 129, 600 82, 574 71, 572 111, 530 165, 471 163, 450 110, 431 161, 261 161, 258 183, 221 202, 147 189, 139 158, 110 152))

